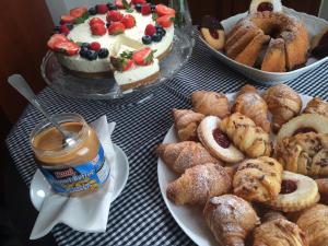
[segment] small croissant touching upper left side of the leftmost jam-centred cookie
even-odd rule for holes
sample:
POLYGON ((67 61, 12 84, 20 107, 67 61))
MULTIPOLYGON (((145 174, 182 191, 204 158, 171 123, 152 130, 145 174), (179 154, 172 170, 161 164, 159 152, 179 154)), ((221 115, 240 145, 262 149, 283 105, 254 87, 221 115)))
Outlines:
POLYGON ((188 109, 173 109, 175 132, 180 141, 197 141, 197 127, 204 115, 188 109))

